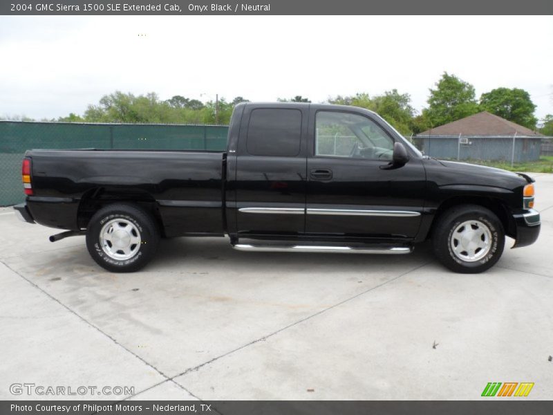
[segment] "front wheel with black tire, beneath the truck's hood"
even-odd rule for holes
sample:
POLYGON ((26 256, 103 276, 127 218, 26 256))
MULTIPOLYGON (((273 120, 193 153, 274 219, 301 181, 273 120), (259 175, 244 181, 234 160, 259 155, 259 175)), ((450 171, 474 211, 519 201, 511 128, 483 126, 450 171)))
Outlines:
POLYGON ((479 205, 459 205, 438 217, 433 227, 432 247, 435 257, 450 270, 463 274, 482 273, 494 266, 503 254, 505 230, 491 210, 479 205), (474 235, 474 239, 463 239, 463 235, 474 235), (485 247, 475 250, 473 244, 470 250, 464 250, 471 240, 485 247), (471 256, 471 252, 474 255, 471 256))

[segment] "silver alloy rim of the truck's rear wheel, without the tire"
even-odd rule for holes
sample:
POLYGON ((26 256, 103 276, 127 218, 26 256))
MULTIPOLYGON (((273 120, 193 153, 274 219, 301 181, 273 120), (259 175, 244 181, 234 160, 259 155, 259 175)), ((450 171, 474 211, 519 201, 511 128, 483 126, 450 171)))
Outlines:
POLYGON ((112 259, 129 259, 140 249, 140 231, 126 219, 108 221, 100 230, 100 246, 112 259))

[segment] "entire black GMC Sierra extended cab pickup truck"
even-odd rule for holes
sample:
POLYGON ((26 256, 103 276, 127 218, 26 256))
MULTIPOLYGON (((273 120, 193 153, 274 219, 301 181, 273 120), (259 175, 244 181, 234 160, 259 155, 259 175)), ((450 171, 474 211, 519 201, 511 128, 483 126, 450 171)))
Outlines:
POLYGON ((377 114, 245 103, 227 151, 32 150, 21 219, 86 234, 111 271, 142 268, 160 237, 224 237, 238 250, 405 254, 431 239, 459 273, 536 241, 525 174, 423 156, 377 114))

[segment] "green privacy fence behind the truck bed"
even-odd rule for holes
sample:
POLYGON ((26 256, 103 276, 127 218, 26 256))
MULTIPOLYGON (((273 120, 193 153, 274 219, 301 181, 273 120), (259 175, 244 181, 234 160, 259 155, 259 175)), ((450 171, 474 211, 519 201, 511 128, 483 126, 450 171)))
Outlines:
POLYGON ((0 121, 0 206, 24 201, 21 159, 29 149, 223 151, 227 133, 223 125, 0 121))

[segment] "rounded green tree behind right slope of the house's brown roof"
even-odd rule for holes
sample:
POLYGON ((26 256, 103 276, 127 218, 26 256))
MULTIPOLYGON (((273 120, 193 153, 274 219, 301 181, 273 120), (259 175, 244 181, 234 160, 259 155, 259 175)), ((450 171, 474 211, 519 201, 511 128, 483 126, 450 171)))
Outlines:
POLYGON ((536 105, 524 89, 496 88, 480 96, 480 108, 524 127, 535 129, 536 105))

